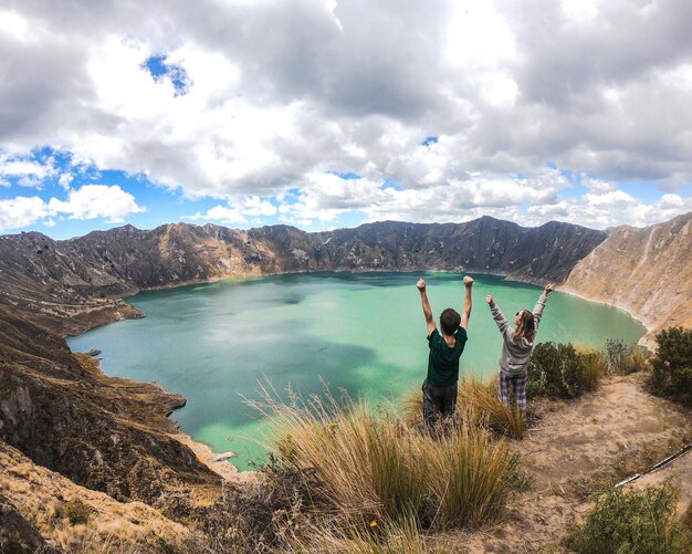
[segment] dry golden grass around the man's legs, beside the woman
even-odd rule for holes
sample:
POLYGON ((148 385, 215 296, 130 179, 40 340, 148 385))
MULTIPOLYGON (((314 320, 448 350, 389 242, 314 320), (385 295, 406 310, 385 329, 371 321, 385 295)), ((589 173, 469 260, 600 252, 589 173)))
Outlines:
MULTIPOLYGON (((497 398, 497 377, 483 381, 466 377, 459 381, 457 395, 458 414, 472 415, 474 424, 494 433, 513 439, 523 439, 525 424, 515 407, 505 406, 497 398)), ((407 421, 422 426, 422 396, 412 390, 403 397, 403 417, 407 421)))

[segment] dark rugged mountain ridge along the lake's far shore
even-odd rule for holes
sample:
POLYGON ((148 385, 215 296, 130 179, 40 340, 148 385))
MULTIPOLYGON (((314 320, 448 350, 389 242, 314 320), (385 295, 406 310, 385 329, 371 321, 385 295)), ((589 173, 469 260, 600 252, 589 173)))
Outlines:
POLYGON ((63 241, 29 232, 0 238, 0 304, 24 303, 35 321, 75 334, 88 328, 90 318, 136 316, 120 299, 140 290, 230 276, 438 270, 563 282, 605 238, 570 223, 523 228, 490 217, 465 223, 385 221, 314 233, 291 226, 245 231, 210 223, 153 230, 128 224, 63 241))

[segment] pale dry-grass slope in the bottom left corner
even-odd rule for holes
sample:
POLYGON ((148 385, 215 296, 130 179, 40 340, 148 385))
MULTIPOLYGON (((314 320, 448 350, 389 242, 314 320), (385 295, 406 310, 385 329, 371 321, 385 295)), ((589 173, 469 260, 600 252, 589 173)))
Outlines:
MULTIPOLYGON (((0 441, 0 552, 206 552, 193 531, 141 502, 119 502, 33 463, 0 441), (77 524, 77 515, 87 524, 77 524)), ((205 547, 207 546, 207 547, 205 547)))

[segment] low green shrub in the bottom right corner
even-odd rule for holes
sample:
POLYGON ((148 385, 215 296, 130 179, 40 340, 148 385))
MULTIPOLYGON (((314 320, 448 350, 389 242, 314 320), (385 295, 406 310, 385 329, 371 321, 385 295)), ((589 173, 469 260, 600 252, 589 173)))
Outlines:
POLYGON ((677 519, 678 491, 669 482, 644 490, 610 490, 573 527, 565 544, 588 554, 689 554, 692 534, 677 519))

